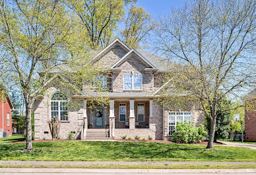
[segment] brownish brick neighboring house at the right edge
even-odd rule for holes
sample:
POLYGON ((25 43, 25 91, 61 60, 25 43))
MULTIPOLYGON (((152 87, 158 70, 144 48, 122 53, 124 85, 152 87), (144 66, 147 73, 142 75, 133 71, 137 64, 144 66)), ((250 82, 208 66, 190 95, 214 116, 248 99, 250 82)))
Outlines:
POLYGON ((245 140, 256 141, 256 89, 251 91, 246 99, 245 108, 245 140))

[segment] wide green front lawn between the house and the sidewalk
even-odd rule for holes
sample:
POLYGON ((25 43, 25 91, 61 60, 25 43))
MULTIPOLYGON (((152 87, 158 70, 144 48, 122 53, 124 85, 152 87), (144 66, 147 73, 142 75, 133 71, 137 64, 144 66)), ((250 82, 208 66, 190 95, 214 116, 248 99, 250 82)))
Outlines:
POLYGON ((243 147, 119 141, 48 141, 22 151, 21 137, 0 139, 0 160, 20 161, 256 161, 256 150, 243 147))

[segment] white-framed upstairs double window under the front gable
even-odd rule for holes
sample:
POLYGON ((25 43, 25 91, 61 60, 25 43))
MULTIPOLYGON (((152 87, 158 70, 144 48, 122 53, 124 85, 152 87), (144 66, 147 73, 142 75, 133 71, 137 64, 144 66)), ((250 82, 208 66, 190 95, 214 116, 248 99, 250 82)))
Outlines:
POLYGON ((143 75, 124 75, 123 89, 125 90, 141 90, 143 89, 143 75))

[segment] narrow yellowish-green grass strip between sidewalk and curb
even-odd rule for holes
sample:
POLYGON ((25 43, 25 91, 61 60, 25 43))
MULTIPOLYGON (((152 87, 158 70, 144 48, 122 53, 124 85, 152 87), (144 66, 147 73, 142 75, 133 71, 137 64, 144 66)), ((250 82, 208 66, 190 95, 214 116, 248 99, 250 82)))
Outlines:
POLYGON ((0 164, 0 168, 240 169, 256 164, 0 164))

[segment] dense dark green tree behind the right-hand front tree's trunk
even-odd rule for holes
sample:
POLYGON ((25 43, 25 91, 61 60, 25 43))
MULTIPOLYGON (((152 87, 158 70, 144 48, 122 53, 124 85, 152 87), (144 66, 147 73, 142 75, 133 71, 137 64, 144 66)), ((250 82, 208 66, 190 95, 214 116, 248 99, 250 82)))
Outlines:
MULTIPOLYGON (((226 139, 230 131, 230 122, 232 122, 231 115, 232 103, 230 100, 223 98, 218 101, 216 105, 216 128, 214 134, 214 141, 218 139, 226 139)), ((208 134, 210 134, 210 118, 205 118, 205 125, 207 126, 208 134)))

